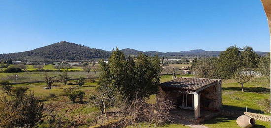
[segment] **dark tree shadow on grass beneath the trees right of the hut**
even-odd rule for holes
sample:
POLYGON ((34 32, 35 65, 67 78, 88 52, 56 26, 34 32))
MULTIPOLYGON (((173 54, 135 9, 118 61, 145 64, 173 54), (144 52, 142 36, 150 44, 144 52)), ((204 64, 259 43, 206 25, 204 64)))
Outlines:
MULTIPOLYGON (((222 87, 222 90, 242 91, 242 88, 241 87, 222 87)), ((270 89, 265 88, 265 87, 244 87, 244 92, 270 93, 270 89)))

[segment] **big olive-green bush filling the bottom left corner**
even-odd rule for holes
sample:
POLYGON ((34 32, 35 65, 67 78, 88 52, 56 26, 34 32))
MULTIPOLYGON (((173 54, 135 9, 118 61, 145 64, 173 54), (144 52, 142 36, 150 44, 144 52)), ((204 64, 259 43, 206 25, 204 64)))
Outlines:
POLYGON ((31 128, 42 118, 43 104, 33 93, 22 99, 1 96, 0 110, 0 128, 31 128))

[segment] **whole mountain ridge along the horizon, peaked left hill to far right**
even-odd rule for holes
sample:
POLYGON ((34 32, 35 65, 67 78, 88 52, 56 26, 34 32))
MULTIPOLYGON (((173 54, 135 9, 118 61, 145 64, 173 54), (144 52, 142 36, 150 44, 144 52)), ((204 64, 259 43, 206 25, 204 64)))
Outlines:
MULTIPOLYGON (((211 57, 219 56, 221 51, 205 51, 195 49, 179 52, 158 52, 158 51, 139 51, 135 49, 122 49, 126 56, 137 56, 139 53, 144 53, 149 56, 158 55, 159 57, 211 57)), ((259 55, 264 55, 266 52, 256 52, 259 55)), ((91 59, 108 58, 111 51, 102 49, 90 48, 84 45, 61 41, 48 46, 40 47, 30 51, 0 54, 0 60, 12 58, 13 60, 21 61, 87 61, 91 59)))

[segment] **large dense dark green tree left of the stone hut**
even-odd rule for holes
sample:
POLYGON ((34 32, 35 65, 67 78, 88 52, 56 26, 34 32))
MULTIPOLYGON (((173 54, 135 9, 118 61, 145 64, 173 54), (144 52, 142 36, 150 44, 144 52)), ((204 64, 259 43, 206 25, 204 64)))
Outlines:
POLYGON ((100 61, 100 77, 98 90, 106 89, 112 99, 115 94, 121 94, 128 101, 136 93, 140 97, 148 97, 157 91, 160 83, 161 66, 158 57, 139 54, 136 59, 125 58, 118 48, 112 51, 109 63, 100 61))

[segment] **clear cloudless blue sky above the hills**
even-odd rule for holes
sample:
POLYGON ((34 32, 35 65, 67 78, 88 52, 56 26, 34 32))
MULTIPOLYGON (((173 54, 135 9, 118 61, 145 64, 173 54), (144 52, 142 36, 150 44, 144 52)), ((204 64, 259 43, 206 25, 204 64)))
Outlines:
POLYGON ((0 53, 59 41, 112 50, 269 51, 260 0, 0 0, 0 53))

